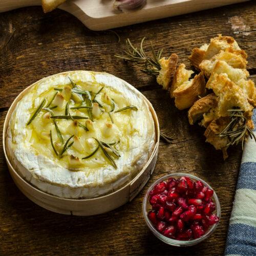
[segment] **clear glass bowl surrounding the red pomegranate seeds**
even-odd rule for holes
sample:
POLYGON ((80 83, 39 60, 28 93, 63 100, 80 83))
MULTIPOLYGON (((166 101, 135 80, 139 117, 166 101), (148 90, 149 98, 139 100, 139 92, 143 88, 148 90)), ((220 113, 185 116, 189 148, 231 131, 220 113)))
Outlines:
MULTIPOLYGON (((209 229, 207 230, 207 232, 205 234, 203 234, 202 237, 197 238, 197 239, 193 239, 193 240, 189 240, 189 241, 181 241, 181 240, 175 240, 175 239, 171 239, 168 237, 165 237, 163 234, 161 234, 155 227, 154 225, 151 223, 150 219, 148 219, 147 217, 147 213, 148 211, 152 210, 152 206, 149 202, 149 198, 150 198, 150 191, 155 187, 156 184, 160 183, 161 181, 167 181, 169 178, 180 178, 181 176, 186 176, 188 178, 190 178, 193 181, 201 181, 203 182, 203 184, 205 186, 207 186, 208 188, 212 189, 211 186, 209 184, 207 184, 205 181, 203 181, 202 179, 194 176, 194 175, 190 175, 190 174, 184 174, 184 173, 176 173, 176 174, 170 174, 170 175, 166 175, 162 178, 160 178, 159 180, 157 180, 156 182, 154 182, 150 188, 148 188, 145 196, 144 196, 144 200, 143 200, 143 216, 145 219, 145 222, 148 226, 148 228, 152 231, 152 233, 159 238, 161 241, 163 241, 164 243, 168 244, 168 245, 173 245, 173 246, 191 246, 191 245, 196 245, 200 242, 202 242, 203 240, 205 240, 206 238, 208 238, 212 232, 214 232, 214 230, 216 229, 218 223, 215 223, 214 225, 210 226, 209 229)), ((214 189, 212 189, 214 190, 214 189)), ((218 216, 219 218, 221 217, 221 206, 220 206, 220 201, 214 191, 214 195, 211 197, 212 201, 214 201, 215 206, 216 206, 216 210, 214 211, 214 214, 216 216, 218 216)))

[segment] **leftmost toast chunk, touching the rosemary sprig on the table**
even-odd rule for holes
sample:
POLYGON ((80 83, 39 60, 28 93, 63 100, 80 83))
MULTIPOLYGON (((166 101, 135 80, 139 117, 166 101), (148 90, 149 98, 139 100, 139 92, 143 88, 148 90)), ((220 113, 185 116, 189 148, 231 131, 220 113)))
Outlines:
POLYGON ((161 70, 157 76, 157 83, 160 84, 164 90, 168 90, 176 71, 178 55, 173 53, 168 59, 161 58, 159 62, 161 70))

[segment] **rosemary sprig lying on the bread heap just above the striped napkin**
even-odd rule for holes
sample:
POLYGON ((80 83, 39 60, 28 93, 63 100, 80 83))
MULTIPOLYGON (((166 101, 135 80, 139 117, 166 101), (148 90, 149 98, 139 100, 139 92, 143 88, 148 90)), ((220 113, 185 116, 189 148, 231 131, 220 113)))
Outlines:
POLYGON ((227 147, 230 145, 238 144, 240 141, 242 141, 242 150, 244 150, 244 140, 247 133, 251 139, 254 138, 255 142, 256 137, 246 124, 247 119, 245 116, 243 116, 243 110, 231 109, 228 110, 228 112, 230 112, 230 122, 217 135, 219 137, 228 137, 229 142, 226 145, 227 147))

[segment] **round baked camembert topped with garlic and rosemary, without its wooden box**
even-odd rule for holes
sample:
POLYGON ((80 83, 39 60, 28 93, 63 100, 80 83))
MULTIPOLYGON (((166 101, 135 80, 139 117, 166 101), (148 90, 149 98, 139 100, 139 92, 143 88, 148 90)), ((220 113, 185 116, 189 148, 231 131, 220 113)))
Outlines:
POLYGON ((94 198, 129 182, 150 158, 154 121, 143 96, 107 74, 73 71, 35 83, 17 103, 7 154, 18 174, 62 198, 94 198))

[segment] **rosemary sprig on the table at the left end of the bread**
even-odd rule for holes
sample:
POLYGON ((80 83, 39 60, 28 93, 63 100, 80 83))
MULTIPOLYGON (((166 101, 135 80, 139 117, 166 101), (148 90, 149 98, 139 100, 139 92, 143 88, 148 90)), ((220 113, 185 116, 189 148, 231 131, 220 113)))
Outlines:
POLYGON ((127 61, 134 62, 137 66, 144 66, 144 69, 141 70, 144 73, 158 76, 159 71, 161 69, 159 60, 161 58, 163 49, 161 49, 160 51, 158 50, 156 54, 151 42, 151 51, 152 51, 153 57, 148 57, 143 51, 144 40, 145 40, 145 37, 141 40, 140 49, 138 50, 132 45, 130 39, 127 38, 126 40, 127 50, 124 51, 125 55, 115 54, 115 56, 118 58, 125 59, 127 61))

